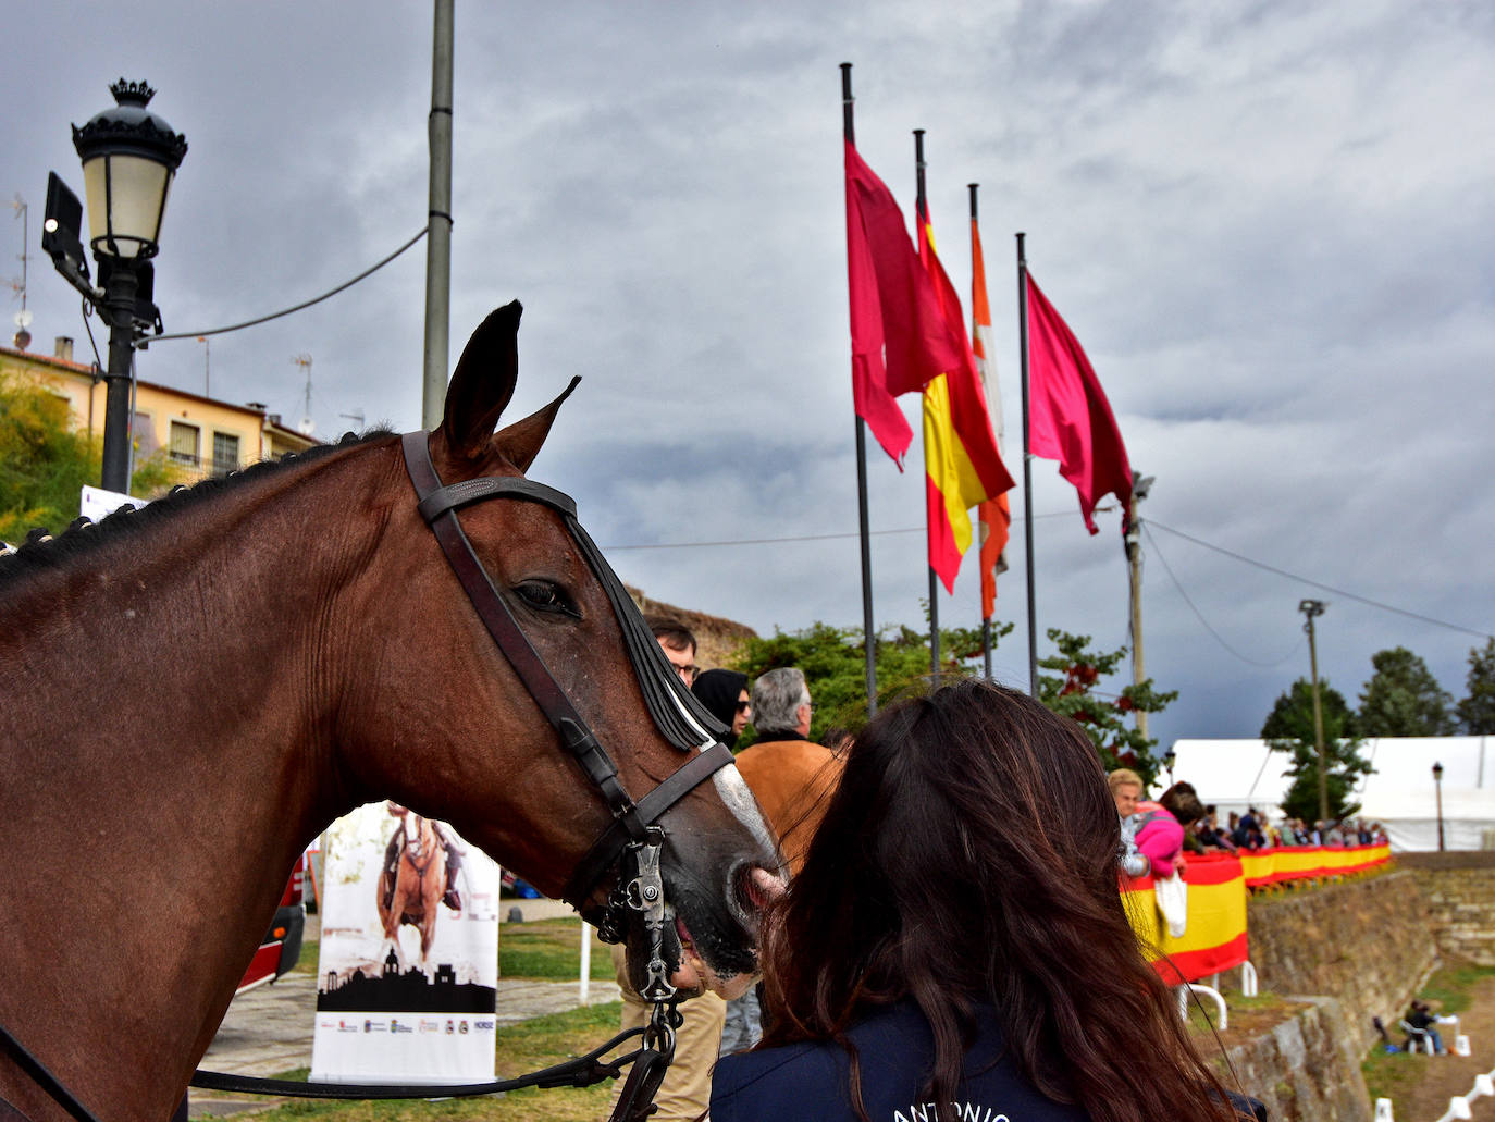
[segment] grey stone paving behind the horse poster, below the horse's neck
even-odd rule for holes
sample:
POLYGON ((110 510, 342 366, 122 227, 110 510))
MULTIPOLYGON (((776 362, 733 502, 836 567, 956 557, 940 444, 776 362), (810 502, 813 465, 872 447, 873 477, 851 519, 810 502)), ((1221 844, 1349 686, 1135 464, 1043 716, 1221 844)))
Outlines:
MULTIPOLYGON (((571 916, 571 907, 559 901, 514 901, 534 922, 571 916)), ((505 902, 504 914, 510 904, 505 902)), ((317 917, 306 917, 306 938, 318 935, 317 917)), ((502 938, 502 936, 501 936, 502 938)), ((309 953, 309 950, 308 950, 309 953)), ((588 1005, 617 1001, 617 983, 594 978, 588 986, 588 1005)), ((547 1013, 564 1013, 582 1005, 577 981, 535 981, 529 978, 499 978, 498 1023, 514 1025, 547 1013)), ((232 1071, 239 1076, 275 1076, 293 1068, 311 1067, 311 1031, 317 1011, 317 978, 309 972, 287 974, 280 981, 241 993, 229 1005, 203 1056, 209 1071, 232 1071)), ((277 1101, 256 1098, 247 1101, 209 1091, 191 1092, 191 1118, 242 1115, 275 1106, 277 1101)))

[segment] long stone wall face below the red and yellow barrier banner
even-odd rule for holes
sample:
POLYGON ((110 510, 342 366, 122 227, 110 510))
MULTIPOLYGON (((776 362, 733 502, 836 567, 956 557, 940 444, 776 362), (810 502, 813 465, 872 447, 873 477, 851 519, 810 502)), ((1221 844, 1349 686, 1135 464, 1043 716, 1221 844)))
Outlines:
POLYGON ((1253 896, 1251 963, 1263 990, 1331 996, 1356 1056, 1395 1025, 1438 956, 1422 871, 1393 872, 1253 896))

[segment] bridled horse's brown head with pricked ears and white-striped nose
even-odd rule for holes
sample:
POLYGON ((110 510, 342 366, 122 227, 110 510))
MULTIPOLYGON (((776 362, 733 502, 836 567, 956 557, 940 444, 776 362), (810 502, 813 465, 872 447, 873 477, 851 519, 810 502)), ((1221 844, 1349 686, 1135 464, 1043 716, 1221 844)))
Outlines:
MULTIPOLYGON (((365 592, 365 609, 390 640, 363 652, 359 669, 372 667, 375 681, 353 687, 342 715, 359 742, 347 767, 362 785, 450 821, 547 896, 594 916, 608 905, 616 863, 588 883, 574 877, 591 865, 592 842, 610 827, 616 833, 619 799, 637 803, 659 787, 716 739, 715 723, 691 708, 617 577, 568 513, 570 500, 528 482, 492 494, 493 480, 523 479, 579 381, 495 432, 517 377, 519 316, 519 304, 510 304, 478 326, 449 386, 441 426, 425 440, 441 492, 489 483, 483 501, 453 498, 451 506, 460 510, 457 536, 471 543, 478 577, 496 600, 484 609, 468 577, 456 576, 443 557, 447 543, 423 521, 435 527, 435 518, 417 512, 407 483, 407 501, 381 512, 399 539, 399 583, 365 592), (535 494, 546 501, 525 501, 535 494), (492 630, 492 615, 510 624, 492 630), (549 685, 535 684, 522 649, 517 660, 499 649, 504 627, 519 633, 549 685), (573 717, 558 720, 558 706, 573 717), (586 733, 595 735, 591 742, 586 733)), ((408 446, 405 455, 413 455, 408 446)), ((767 872, 777 862, 736 766, 692 775, 710 779, 656 818, 673 919, 664 925, 662 959, 680 989, 734 993, 756 972, 756 914, 779 884, 767 872)), ((629 972, 641 987, 649 938, 638 914, 625 926, 629 972)))

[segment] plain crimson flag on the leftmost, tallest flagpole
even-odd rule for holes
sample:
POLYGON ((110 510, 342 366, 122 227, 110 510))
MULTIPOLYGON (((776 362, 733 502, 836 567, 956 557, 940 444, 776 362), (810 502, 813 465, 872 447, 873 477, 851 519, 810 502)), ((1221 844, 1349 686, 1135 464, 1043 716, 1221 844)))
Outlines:
POLYGON ((846 144, 846 272, 851 287, 851 370, 857 416, 903 468, 913 432, 893 399, 954 365, 964 347, 949 338, 939 298, 919 266, 893 191, 846 144))

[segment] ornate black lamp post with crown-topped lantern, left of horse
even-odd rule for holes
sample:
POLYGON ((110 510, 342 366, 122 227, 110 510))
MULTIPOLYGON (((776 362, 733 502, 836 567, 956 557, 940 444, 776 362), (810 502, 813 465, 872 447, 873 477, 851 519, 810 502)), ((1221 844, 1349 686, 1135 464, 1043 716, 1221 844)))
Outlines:
POLYGON ((130 365, 138 335, 160 322, 151 302, 150 259, 155 256, 172 177, 187 154, 187 138, 147 109, 155 94, 148 84, 121 78, 109 93, 114 108, 82 127, 75 124, 73 147, 84 165, 90 245, 103 289, 99 310, 109 325, 102 482, 106 491, 127 494, 130 365))

